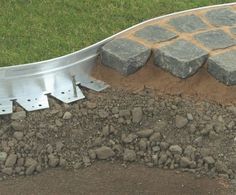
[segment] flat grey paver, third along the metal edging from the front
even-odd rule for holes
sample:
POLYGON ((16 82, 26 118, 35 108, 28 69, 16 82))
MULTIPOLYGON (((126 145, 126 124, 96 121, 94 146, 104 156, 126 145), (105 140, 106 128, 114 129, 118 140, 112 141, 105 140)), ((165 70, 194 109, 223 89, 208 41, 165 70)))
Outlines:
POLYGON ((201 18, 194 14, 172 18, 170 19, 169 24, 175 27, 179 32, 192 33, 207 29, 207 25, 201 20, 201 18))

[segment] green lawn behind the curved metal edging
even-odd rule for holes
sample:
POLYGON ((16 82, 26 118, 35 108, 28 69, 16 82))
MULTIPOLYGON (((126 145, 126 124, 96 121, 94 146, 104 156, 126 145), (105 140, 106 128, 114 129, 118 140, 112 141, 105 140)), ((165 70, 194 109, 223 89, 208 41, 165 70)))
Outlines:
POLYGON ((1 0, 0 67, 58 57, 146 19, 233 0, 1 0))

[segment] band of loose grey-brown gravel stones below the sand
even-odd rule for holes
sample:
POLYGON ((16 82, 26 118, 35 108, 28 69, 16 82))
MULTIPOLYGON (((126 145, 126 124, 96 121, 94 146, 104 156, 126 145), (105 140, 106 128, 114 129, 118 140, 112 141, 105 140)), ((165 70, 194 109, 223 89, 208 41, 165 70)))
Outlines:
POLYGON ((87 99, 0 119, 1 178, 97 160, 235 178, 236 107, 108 89, 87 99))

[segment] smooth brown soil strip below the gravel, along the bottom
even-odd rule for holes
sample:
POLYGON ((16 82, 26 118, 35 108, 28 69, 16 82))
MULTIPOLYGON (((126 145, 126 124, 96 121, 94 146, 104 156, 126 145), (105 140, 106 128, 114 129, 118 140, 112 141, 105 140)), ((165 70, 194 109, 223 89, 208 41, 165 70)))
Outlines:
POLYGON ((141 165, 96 163, 76 172, 46 171, 32 178, 0 183, 1 194, 230 194, 224 180, 195 179, 190 174, 150 169, 141 165))

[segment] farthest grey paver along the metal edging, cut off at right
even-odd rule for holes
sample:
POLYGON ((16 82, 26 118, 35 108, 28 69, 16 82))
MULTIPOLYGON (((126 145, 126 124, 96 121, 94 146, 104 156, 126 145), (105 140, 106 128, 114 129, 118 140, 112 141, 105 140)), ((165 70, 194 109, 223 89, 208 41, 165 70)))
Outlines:
POLYGON ((214 26, 236 25, 236 11, 230 8, 210 10, 205 14, 205 17, 214 26))

